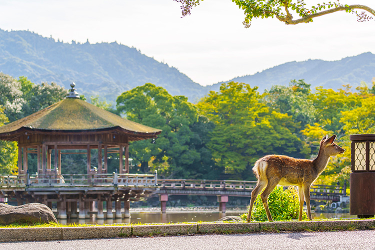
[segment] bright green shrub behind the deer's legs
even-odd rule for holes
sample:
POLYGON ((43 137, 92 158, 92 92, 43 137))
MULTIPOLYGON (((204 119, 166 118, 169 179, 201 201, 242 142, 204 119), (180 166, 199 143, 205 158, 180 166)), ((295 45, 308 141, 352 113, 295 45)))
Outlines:
MULTIPOLYGON (((268 221, 260 193, 252 207, 251 220, 268 221)), ((268 196, 268 207, 273 220, 298 219, 299 198, 297 188, 289 186, 284 190, 282 186, 276 186, 268 196)), ((242 214, 241 218, 246 220, 247 213, 242 214)), ((302 219, 307 219, 305 211, 302 211, 302 219)))

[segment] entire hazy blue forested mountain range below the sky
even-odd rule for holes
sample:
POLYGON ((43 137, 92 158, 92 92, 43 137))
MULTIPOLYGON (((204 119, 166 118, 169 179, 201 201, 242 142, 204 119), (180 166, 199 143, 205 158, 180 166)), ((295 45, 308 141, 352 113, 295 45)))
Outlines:
MULTIPOLYGON (((195 102, 209 90, 218 91, 222 83, 201 86, 176 68, 116 42, 64 43, 34 32, 2 29, 0 71, 15 78, 24 75, 34 83, 54 81, 65 88, 74 81, 79 93, 99 95, 113 102, 123 91, 146 82, 195 102)), ((228 81, 258 86, 259 92, 263 92, 275 84, 287 85, 292 79, 304 79, 312 89, 316 86, 337 89, 343 84, 355 87, 361 81, 371 86, 374 76, 375 55, 367 52, 336 61, 286 62, 228 81)))

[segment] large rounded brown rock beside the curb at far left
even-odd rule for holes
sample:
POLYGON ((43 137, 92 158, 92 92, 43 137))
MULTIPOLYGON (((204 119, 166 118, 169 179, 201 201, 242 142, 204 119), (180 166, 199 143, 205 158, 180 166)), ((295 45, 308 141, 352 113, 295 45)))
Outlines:
POLYGON ((14 222, 25 223, 49 223, 56 222, 52 210, 40 203, 28 203, 19 206, 0 203, 0 224, 11 224, 14 222))

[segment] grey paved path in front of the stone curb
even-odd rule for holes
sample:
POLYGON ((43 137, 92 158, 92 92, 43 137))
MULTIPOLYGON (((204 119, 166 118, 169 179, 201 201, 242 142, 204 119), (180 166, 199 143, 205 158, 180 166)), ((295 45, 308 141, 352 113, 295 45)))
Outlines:
POLYGON ((6 250, 375 249, 375 230, 252 233, 0 243, 6 250))

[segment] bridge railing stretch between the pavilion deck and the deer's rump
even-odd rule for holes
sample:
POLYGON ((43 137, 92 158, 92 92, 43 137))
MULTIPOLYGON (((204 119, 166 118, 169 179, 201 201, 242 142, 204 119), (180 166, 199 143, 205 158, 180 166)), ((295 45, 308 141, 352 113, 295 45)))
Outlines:
POLYGON ((211 180, 211 179, 158 179, 159 188, 202 189, 202 190, 252 190, 256 181, 211 180))

